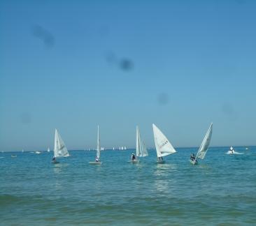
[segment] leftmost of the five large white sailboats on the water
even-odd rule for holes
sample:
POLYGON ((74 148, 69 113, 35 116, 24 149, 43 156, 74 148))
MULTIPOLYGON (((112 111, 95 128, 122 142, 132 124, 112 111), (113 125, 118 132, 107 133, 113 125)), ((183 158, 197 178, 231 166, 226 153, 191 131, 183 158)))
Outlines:
POLYGON ((66 145, 59 135, 57 129, 55 129, 55 149, 52 163, 59 163, 56 158, 69 157, 69 151, 66 149, 66 145))

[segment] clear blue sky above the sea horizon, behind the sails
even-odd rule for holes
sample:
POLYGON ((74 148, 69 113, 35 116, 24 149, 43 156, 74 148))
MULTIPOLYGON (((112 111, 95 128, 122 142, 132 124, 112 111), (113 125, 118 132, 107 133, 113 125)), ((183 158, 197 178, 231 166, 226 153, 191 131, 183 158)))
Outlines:
POLYGON ((0 151, 256 144, 256 1, 0 1, 0 151))

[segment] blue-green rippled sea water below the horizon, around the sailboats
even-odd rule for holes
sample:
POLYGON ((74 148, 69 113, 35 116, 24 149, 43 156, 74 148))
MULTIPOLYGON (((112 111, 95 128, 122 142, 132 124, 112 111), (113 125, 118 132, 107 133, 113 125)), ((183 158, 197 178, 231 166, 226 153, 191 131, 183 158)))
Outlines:
POLYGON ((256 225, 256 147, 195 148, 156 164, 155 150, 127 163, 134 150, 0 153, 0 225, 256 225), (12 158, 11 155, 17 155, 12 158), (2 158, 4 157, 4 158, 2 158))

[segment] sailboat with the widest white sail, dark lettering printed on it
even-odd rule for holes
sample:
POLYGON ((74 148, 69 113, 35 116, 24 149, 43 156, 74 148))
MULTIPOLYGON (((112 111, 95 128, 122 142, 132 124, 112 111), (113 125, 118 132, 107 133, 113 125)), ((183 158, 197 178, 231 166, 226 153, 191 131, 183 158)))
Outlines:
POLYGON ((157 150, 157 163, 164 163, 163 157, 176 153, 176 150, 173 148, 171 142, 169 142, 161 130, 159 130, 155 124, 152 124, 152 126, 155 137, 155 149, 157 150))

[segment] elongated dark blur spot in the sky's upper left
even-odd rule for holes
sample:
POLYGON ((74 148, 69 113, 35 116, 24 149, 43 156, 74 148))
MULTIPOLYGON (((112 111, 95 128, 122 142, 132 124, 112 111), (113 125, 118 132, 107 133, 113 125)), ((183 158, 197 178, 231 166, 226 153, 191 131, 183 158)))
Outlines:
POLYGON ((52 33, 39 25, 32 27, 32 34, 36 38, 41 39, 46 47, 53 47, 55 45, 55 37, 52 33))

